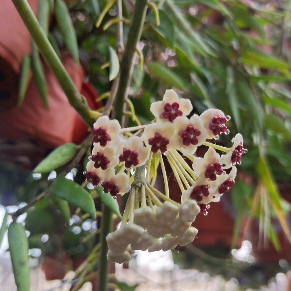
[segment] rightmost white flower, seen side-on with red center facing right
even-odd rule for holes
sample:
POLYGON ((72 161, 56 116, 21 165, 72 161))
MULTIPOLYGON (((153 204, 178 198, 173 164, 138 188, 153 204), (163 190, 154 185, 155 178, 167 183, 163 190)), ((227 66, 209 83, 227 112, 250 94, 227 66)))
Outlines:
POLYGON ((243 148, 243 136, 240 133, 238 133, 231 141, 232 147, 230 151, 221 157, 221 161, 226 169, 232 165, 240 165, 242 163, 241 156, 248 151, 243 148))

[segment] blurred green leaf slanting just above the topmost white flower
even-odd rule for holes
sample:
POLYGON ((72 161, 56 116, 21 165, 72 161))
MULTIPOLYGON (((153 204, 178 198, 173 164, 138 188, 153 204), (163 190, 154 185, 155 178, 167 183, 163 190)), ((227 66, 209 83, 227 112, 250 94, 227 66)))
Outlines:
POLYGON ((174 72, 172 72, 168 67, 153 62, 148 65, 148 69, 151 74, 155 75, 166 84, 186 91, 186 85, 184 84, 183 80, 174 72))

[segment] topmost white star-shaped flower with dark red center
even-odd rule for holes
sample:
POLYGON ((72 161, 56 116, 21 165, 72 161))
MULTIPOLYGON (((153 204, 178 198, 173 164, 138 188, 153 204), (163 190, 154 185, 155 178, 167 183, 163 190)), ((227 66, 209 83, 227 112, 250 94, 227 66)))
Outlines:
POLYGON ((178 116, 186 117, 192 108, 189 99, 180 99, 174 90, 166 90, 163 100, 152 103, 150 110, 158 121, 173 122, 178 116))

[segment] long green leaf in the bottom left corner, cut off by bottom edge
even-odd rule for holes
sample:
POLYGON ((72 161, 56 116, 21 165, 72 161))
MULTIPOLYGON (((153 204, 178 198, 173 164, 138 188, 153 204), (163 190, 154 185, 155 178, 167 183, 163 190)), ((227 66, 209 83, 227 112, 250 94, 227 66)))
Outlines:
POLYGON ((18 291, 29 291, 28 239, 21 223, 11 222, 8 227, 8 244, 18 291))

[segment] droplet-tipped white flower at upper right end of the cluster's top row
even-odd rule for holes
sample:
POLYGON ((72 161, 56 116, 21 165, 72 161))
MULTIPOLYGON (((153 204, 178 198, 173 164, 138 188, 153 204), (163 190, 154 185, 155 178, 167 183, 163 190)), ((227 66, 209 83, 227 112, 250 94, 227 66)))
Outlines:
POLYGON ((221 110, 213 108, 207 109, 200 115, 200 118, 206 129, 207 139, 213 139, 214 137, 219 136, 222 132, 225 132, 226 134, 229 133, 225 124, 230 120, 230 116, 225 116, 221 110))

